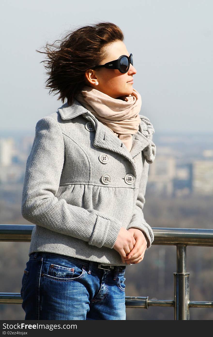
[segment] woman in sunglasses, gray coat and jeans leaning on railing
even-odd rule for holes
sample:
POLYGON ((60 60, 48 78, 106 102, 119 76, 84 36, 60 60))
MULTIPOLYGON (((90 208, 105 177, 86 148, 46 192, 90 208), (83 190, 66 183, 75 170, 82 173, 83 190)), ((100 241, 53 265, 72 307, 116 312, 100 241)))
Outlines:
POLYGON ((47 87, 67 102, 37 122, 26 164, 22 215, 35 227, 25 319, 124 320, 125 268, 154 239, 142 211, 154 129, 139 116, 132 54, 108 22, 45 54, 47 87))

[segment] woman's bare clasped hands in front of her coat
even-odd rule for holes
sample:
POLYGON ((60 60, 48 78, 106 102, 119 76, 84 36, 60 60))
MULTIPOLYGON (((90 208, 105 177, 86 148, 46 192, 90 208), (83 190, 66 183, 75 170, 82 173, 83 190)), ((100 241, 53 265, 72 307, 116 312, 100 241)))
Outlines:
POLYGON ((122 263, 137 264, 144 258, 147 240, 140 229, 121 227, 113 248, 120 254, 122 263))

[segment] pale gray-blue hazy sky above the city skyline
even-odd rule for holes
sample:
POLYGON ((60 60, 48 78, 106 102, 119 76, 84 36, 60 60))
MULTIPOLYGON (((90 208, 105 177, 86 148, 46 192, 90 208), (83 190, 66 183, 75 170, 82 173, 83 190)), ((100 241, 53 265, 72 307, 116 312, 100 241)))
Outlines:
POLYGON ((35 132, 62 105, 45 89, 41 50, 81 26, 109 21, 133 54, 140 115, 159 133, 213 131, 212 0, 2 0, 0 136, 35 132))

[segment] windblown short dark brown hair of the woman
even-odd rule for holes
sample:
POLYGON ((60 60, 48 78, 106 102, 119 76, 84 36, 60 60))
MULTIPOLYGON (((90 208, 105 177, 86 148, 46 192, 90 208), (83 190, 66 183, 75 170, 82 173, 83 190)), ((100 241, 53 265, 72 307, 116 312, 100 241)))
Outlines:
POLYGON ((47 60, 44 62, 48 75, 46 88, 49 94, 60 94, 58 100, 68 104, 85 85, 85 72, 100 64, 106 57, 106 45, 117 40, 123 41, 121 29, 111 22, 100 22, 69 31, 64 38, 53 44, 46 43, 47 60), (57 43, 59 42, 59 43, 57 43))

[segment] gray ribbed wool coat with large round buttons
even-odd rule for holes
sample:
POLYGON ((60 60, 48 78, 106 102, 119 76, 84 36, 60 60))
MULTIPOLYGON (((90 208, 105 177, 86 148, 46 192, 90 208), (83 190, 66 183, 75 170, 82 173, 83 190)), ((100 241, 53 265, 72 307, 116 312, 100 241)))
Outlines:
POLYGON ((51 252, 123 265, 112 249, 121 227, 154 240, 143 215, 154 129, 140 116, 129 152, 77 100, 41 118, 26 163, 22 215, 36 226, 29 255, 51 252))

